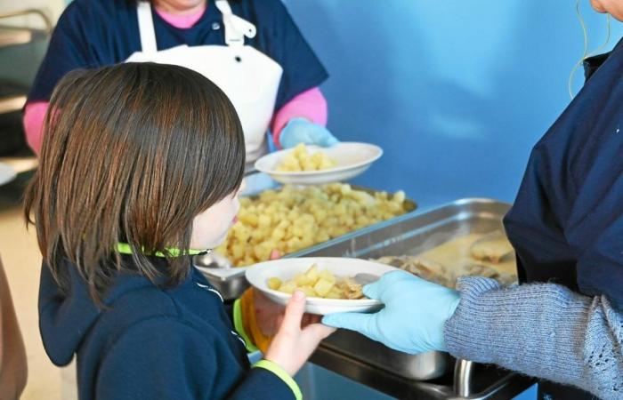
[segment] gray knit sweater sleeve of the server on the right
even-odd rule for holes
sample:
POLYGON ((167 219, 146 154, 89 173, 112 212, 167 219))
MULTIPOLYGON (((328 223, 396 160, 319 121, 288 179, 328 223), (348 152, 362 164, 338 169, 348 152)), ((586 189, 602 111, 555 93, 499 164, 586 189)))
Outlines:
POLYGON ((461 300, 445 326, 452 356, 623 398, 623 315, 605 297, 557 284, 502 288, 483 277, 457 287, 461 300))

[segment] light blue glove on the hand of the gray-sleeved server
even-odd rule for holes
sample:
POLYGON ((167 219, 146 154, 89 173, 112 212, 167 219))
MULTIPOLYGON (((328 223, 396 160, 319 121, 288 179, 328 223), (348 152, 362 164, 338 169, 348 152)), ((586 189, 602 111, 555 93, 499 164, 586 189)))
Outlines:
POLYGON ((457 291, 392 271, 364 286, 363 293, 385 307, 375 314, 329 314, 322 324, 360 332, 404 353, 446 351, 443 327, 458 306, 457 291))

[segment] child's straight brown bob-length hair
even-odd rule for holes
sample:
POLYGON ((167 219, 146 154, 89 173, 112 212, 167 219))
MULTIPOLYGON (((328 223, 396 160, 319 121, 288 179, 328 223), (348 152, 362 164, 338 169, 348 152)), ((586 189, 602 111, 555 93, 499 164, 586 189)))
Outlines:
POLYGON ((149 254, 167 255, 168 284, 190 271, 170 249, 190 247, 192 221, 235 193, 245 166, 239 118, 227 96, 187 68, 126 63, 79 70, 55 88, 40 164, 24 201, 44 261, 67 290, 69 260, 101 302, 126 268, 156 283, 149 254))

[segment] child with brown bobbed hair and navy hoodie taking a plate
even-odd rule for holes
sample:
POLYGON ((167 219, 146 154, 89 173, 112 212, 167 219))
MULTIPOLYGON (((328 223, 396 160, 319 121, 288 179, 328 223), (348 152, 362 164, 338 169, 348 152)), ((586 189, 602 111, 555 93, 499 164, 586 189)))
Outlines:
POLYGON ((301 328, 303 293, 250 368, 191 263, 239 209, 245 140, 225 94, 182 67, 78 71, 55 89, 44 129, 25 198, 44 256, 39 323, 54 364, 77 355, 79 397, 300 398, 291 376, 332 332, 301 328))

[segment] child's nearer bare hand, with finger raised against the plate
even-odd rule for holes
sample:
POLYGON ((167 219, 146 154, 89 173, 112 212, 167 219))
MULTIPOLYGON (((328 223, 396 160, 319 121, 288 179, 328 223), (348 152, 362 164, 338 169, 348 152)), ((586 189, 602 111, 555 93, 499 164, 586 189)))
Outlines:
POLYGON ((264 356, 290 376, 294 376, 312 356, 320 340, 335 332, 335 328, 323 324, 309 324, 301 329, 304 310, 305 295, 296 291, 287 302, 286 315, 264 356))

